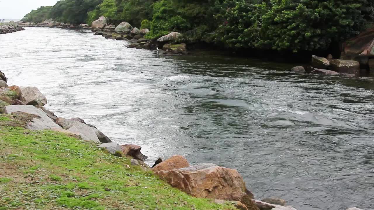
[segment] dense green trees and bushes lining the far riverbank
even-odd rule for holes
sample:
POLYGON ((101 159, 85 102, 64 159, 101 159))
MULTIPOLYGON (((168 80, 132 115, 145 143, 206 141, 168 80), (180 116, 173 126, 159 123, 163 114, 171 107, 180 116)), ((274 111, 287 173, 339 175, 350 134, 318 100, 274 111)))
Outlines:
POLYGON ((24 21, 53 18, 79 24, 105 16, 149 27, 147 38, 170 31, 187 43, 233 50, 328 51, 370 27, 371 0, 65 0, 40 7, 24 21), (46 15, 46 10, 49 14, 46 15), (39 11, 40 10, 40 11, 39 11), (31 19, 30 19, 31 18, 31 19), (144 23, 144 25, 142 25, 144 23))

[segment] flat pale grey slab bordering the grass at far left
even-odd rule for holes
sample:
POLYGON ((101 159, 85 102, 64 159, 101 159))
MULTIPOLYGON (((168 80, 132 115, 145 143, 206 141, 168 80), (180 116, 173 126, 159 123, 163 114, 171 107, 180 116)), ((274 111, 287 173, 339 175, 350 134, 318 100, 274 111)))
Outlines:
POLYGON ((9 105, 5 106, 4 114, 12 114, 13 112, 24 112, 27 114, 36 115, 39 118, 33 118, 27 122, 26 128, 30 130, 44 130, 50 128, 61 128, 56 124, 47 114, 42 110, 32 105, 9 105))

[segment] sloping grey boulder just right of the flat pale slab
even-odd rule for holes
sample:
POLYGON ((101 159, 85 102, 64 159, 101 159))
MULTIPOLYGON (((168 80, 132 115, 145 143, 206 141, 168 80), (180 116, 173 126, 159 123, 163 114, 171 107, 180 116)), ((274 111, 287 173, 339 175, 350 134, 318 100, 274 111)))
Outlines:
POLYGON ((83 140, 100 142, 96 135, 96 130, 82 122, 80 118, 65 119, 62 117, 57 118, 56 123, 66 130, 71 132, 79 132, 83 140))

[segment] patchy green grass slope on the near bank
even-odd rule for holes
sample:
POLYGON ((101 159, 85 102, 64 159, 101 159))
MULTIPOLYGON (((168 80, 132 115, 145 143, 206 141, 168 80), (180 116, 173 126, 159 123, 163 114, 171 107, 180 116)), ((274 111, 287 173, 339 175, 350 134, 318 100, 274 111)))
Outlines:
POLYGON ((129 159, 0 115, 0 210, 234 209, 174 189, 129 159))

